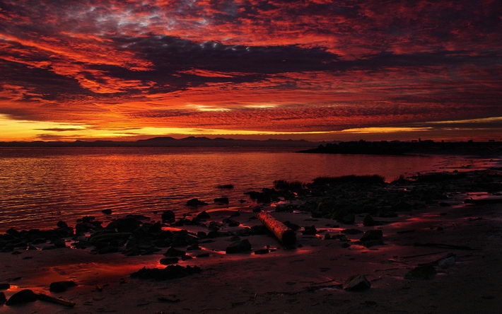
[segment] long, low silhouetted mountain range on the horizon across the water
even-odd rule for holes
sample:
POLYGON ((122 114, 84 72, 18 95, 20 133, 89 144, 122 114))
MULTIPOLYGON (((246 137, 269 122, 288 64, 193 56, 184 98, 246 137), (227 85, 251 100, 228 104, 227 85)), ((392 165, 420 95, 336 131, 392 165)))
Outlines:
POLYGON ((284 139, 224 139, 218 137, 189 136, 174 139, 170 136, 140 139, 138 141, 1 141, 0 147, 298 147, 313 148, 320 143, 305 140, 284 139))

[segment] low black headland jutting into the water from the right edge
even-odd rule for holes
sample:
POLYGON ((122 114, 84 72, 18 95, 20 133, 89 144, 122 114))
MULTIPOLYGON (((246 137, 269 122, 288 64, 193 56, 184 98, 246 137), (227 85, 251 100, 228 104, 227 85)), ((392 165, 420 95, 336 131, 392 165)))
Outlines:
POLYGON ((370 155, 404 154, 462 154, 473 156, 501 156, 500 141, 346 141, 320 144, 315 149, 300 153, 354 153, 370 155))

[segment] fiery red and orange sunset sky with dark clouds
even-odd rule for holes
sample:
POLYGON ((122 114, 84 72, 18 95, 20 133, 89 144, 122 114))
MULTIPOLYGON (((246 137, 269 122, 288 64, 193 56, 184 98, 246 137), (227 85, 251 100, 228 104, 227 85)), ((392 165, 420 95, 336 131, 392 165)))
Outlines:
POLYGON ((500 0, 0 1, 0 141, 502 140, 500 0))

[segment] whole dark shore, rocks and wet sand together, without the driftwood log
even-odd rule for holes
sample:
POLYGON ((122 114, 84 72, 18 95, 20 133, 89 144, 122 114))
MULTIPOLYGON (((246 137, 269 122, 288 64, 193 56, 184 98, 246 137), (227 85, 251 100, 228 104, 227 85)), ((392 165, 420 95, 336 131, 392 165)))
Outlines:
MULTIPOLYGON (((278 180, 257 206, 0 235, 15 313, 497 313, 502 170, 278 180), (257 219, 296 235, 284 245, 257 219)), ((223 201, 223 200, 222 200, 223 201)), ((3 313, 3 312, 2 312, 3 313)))

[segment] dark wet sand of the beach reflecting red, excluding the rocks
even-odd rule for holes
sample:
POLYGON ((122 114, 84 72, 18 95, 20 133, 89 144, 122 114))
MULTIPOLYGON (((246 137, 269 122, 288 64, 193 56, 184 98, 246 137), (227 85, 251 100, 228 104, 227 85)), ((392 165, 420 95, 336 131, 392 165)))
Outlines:
MULTIPOLYGON (((373 213, 375 226, 368 226, 364 212, 354 215, 354 223, 343 223, 302 210, 319 195, 283 202, 291 204, 291 212, 262 206, 277 220, 300 227, 295 248, 284 248, 272 234, 239 233, 262 226, 250 207, 207 211, 209 217, 193 225, 165 223, 164 231, 185 229, 199 235, 211 223, 218 225, 220 236, 199 238, 198 248, 177 247, 192 257, 180 259, 178 265, 200 268, 182 278, 131 277, 142 267, 164 268, 160 260, 167 248, 138 256, 96 254, 93 247, 71 248, 75 240, 67 238, 65 248, 42 250, 49 246, 42 243, 33 245, 34 250, 1 252, 0 284, 9 287, 0 292, 7 300, 30 289, 75 305, 37 300, 4 304, 0 313, 499 313, 501 178, 498 170, 485 170, 460 180, 385 185, 382 191, 389 194, 428 186, 448 198, 431 196, 420 208, 397 211, 395 216, 373 213), (466 204, 469 198, 493 202, 466 204), (228 219, 238 221, 238 226, 228 219), (382 231, 383 238, 361 242, 372 230, 382 231), (251 250, 226 254, 230 243, 242 240, 249 241, 251 250), (410 273, 424 265, 432 273, 410 273), (370 286, 344 289, 354 275, 363 275, 370 286), (54 281, 74 281, 76 286, 49 291, 54 281)), ((380 190, 351 191, 358 192, 349 193, 349 199, 366 194, 382 198, 380 190)))

